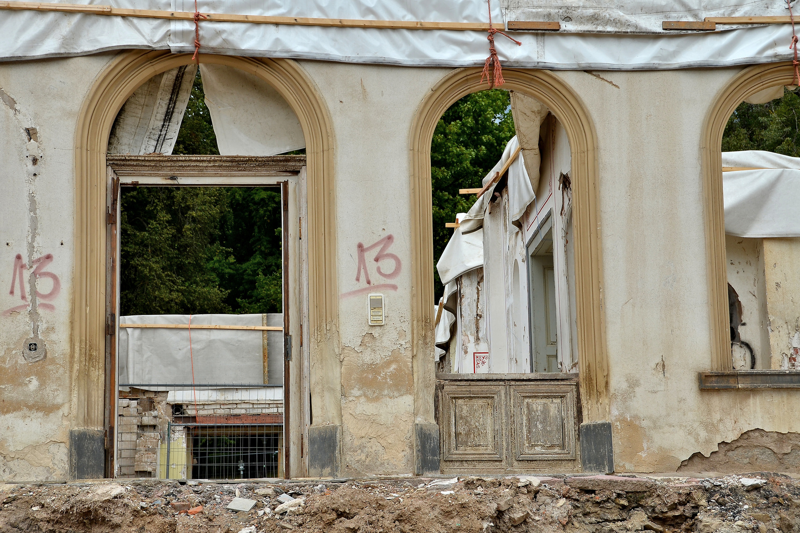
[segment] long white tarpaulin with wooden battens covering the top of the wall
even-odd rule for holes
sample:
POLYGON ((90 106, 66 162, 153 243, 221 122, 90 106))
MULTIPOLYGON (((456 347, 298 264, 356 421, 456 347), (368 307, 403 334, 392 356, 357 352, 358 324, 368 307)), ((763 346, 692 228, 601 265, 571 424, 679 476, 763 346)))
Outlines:
MULTIPOLYGON (((95 3, 95 2, 92 2, 95 3)), ((190 0, 98 1, 114 7, 194 11, 190 0)), ((594 3, 599 3, 594 2, 594 3)), ((685 6, 682 0, 626 3, 626 7, 586 2, 514 2, 506 9, 492 2, 494 22, 558 20, 556 33, 514 32, 517 46, 495 36, 504 66, 545 69, 664 69, 733 66, 788 60, 788 24, 746 27, 714 33, 672 34, 662 20, 698 20, 707 15, 786 15, 775 0, 708 0, 685 6), (534 10, 537 14, 534 17, 534 10), (602 34, 590 32, 618 32, 602 34), (628 32, 652 32, 630 34, 628 32), (570 33, 575 32, 575 33, 570 33)), ((206 13, 278 15, 309 18, 354 18, 434 22, 488 22, 485 0, 430 2, 330 2, 303 0, 200 2, 206 13)), ((725 29, 719 26, 718 29, 725 29)), ((488 55, 486 32, 450 30, 382 30, 319 26, 285 26, 241 22, 200 22, 202 52, 270 58, 409 66, 482 66, 488 55)), ((194 52, 194 23, 155 18, 95 14, 2 11, 0 59, 46 58, 130 48, 194 52)))

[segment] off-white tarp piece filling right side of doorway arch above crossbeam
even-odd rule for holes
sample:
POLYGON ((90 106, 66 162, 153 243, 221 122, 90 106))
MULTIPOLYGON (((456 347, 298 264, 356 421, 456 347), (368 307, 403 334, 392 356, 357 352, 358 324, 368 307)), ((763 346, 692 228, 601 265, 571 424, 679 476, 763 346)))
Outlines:
POLYGON ((271 156, 306 146, 297 115, 261 78, 224 65, 201 65, 200 77, 222 155, 271 156))

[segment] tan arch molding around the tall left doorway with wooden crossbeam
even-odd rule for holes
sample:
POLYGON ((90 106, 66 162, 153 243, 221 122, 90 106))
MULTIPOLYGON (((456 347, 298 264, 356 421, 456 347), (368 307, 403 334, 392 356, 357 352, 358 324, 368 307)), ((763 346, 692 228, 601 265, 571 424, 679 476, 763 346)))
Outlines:
MULTIPOLYGON (((134 50, 100 74, 87 94, 75 141, 75 263, 72 316, 73 428, 102 430, 105 408, 106 147, 111 126, 134 90, 190 54, 134 50)), ((319 369, 335 358, 338 289, 335 277, 334 135, 330 113, 314 82, 286 59, 200 54, 200 62, 232 66, 262 78, 297 114, 306 138, 308 297, 314 420, 340 424, 336 372, 319 369), (327 266, 327 268, 326 268, 327 266), (316 368, 315 368, 316 367, 316 368), (330 401, 335 397, 335 401, 330 401), (329 411, 325 411, 329 406, 329 411), (319 409, 319 412, 316 412, 319 409)))

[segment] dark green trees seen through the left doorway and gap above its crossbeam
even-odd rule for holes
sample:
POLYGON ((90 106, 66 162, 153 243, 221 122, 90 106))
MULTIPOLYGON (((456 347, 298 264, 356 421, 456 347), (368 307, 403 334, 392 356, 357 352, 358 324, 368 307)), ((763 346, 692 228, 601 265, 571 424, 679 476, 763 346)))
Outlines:
MULTIPOLYGON (((195 78, 175 154, 218 154, 195 78)), ((123 188, 120 312, 280 312, 281 195, 264 187, 123 188)))

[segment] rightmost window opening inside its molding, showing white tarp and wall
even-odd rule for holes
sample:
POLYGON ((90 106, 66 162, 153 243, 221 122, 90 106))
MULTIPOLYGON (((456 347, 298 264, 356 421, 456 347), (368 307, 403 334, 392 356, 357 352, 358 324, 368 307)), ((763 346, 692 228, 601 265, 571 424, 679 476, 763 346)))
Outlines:
POLYGON ((800 95, 753 94, 722 137, 730 350, 734 370, 800 369, 800 95))

